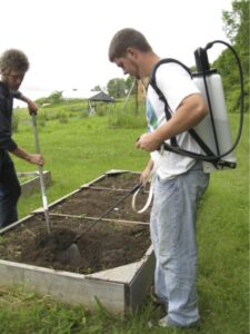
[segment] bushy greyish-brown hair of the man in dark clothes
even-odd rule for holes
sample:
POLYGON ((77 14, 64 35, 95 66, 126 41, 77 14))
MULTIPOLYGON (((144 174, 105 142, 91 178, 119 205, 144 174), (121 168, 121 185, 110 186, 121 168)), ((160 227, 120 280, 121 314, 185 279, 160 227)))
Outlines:
POLYGON ((29 69, 28 57, 18 49, 6 50, 0 57, 0 71, 4 73, 9 70, 27 72, 29 69))

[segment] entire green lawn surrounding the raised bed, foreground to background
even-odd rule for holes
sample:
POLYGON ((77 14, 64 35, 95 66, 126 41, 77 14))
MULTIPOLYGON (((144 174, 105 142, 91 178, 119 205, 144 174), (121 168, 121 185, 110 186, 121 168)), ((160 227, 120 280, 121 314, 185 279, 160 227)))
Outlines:
MULTIPOLYGON (((231 115, 237 128, 237 115, 231 115)), ((199 209, 197 239, 199 247, 198 293, 201 325, 190 330, 149 330, 149 318, 160 311, 146 301, 138 314, 120 320, 100 305, 90 314, 82 305, 69 306, 49 296, 39 296, 23 287, 0 288, 0 333, 249 333, 249 131, 248 117, 237 148, 236 170, 213 173, 199 209)), ((136 138, 144 131, 111 129, 107 117, 57 119, 39 128, 44 169, 52 174, 48 199, 74 190, 111 168, 141 170, 148 155, 134 148, 136 138)), ((16 139, 23 148, 34 149, 30 124, 20 125, 16 139)), ((18 171, 36 166, 14 159, 18 171)), ((23 198, 20 216, 41 206, 40 194, 23 198)))

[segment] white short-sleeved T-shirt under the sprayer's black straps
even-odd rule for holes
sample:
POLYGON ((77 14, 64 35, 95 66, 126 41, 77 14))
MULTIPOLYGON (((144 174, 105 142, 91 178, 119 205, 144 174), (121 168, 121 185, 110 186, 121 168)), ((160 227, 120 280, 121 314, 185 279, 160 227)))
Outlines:
MULTIPOLYGON (((164 95, 172 115, 177 111, 179 105, 186 97, 192 94, 200 94, 189 73, 181 66, 173 62, 162 63, 157 69, 156 82, 164 95)), ((147 120, 150 132, 167 121, 164 104, 159 100, 159 96, 150 85, 147 91, 147 120)), ((199 145, 189 132, 182 132, 176 136, 176 138, 181 148, 198 154, 201 153, 199 145)), ((166 143, 170 144, 170 140, 166 140, 166 143)), ((196 160, 190 157, 167 150, 164 150, 163 154, 152 151, 151 158, 154 163, 154 167, 157 167, 158 175, 162 179, 183 174, 196 163, 196 160)))

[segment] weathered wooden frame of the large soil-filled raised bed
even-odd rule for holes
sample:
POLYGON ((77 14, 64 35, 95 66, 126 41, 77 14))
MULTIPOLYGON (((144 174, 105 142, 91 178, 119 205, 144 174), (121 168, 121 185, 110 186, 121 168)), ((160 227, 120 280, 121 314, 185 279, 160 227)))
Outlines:
MULTIPOLYGON (((49 207, 52 208, 72 194, 88 188, 112 173, 124 173, 124 170, 109 170, 91 183, 84 184, 79 189, 53 202, 49 207)), ((31 215, 1 229, 0 235, 7 234, 20 224, 26 224, 30 217, 41 210, 41 208, 37 209, 31 215)), ((39 294, 51 295, 60 302, 82 303, 89 310, 94 310, 97 301, 99 301, 109 312, 124 316, 127 313, 133 313, 148 295, 153 281, 153 267, 152 246, 138 262, 88 275, 0 259, 0 285, 23 285, 39 294)))

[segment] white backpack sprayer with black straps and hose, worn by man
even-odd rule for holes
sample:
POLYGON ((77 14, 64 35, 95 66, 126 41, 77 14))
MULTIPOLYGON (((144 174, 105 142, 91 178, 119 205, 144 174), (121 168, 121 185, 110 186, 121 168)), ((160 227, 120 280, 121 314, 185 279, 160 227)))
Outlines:
MULTIPOLYGON (((156 81, 156 72, 159 66, 168 62, 176 62, 184 68, 196 86, 201 91, 203 98, 206 99, 209 114, 204 117, 204 119, 199 122, 193 129, 189 130, 189 134, 192 138, 198 143, 201 147, 203 154, 196 154, 186 149, 182 149, 178 143, 176 137, 170 138, 170 144, 163 143, 161 148, 182 155, 188 156, 197 160, 203 161, 203 170, 206 173, 210 173, 212 170, 222 170, 224 168, 236 168, 237 159, 234 156, 234 148, 239 144, 242 127, 243 127, 243 109, 244 109, 244 90, 243 90, 243 71, 241 67, 240 59, 236 52, 236 50, 227 42, 221 40, 214 40, 209 42, 206 48, 198 48, 194 51, 196 59, 196 68, 197 72, 191 73, 189 68, 182 62, 167 58, 161 59, 153 68, 149 85, 156 90, 159 96, 159 99, 164 104, 164 112, 167 120, 171 118, 170 108, 164 95, 161 92, 156 81), (238 135, 234 144, 232 143, 230 125, 228 121, 228 111, 224 99, 224 91, 222 86, 221 76, 218 73, 217 69, 210 69, 208 53, 207 51, 214 45, 222 43, 226 45, 233 53, 238 68, 239 68, 239 77, 240 77, 240 122, 238 135)), ((148 206, 150 205, 150 198, 147 200, 144 207, 140 210, 136 209, 136 197, 141 189, 133 195, 132 198, 132 208, 137 213, 143 213, 148 206)), ((152 197, 152 191, 150 191, 149 197, 152 197)))

